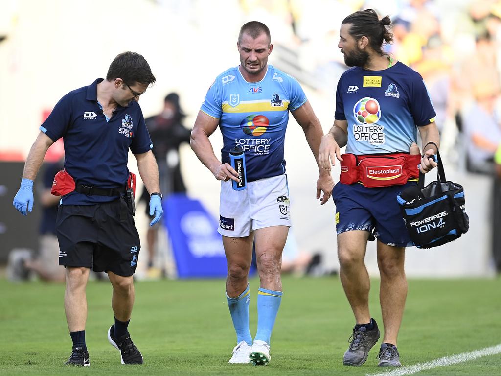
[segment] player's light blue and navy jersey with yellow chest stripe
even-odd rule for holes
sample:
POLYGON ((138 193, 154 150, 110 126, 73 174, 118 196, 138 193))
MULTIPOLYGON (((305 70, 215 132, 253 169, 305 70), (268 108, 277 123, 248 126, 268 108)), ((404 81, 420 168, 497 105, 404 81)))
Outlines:
POLYGON ((219 119, 223 136, 221 160, 240 144, 245 152, 247 181, 285 173, 284 139, 289 110, 306 102, 300 84, 268 65, 260 82, 247 82, 238 67, 221 73, 207 91, 201 111, 219 119))

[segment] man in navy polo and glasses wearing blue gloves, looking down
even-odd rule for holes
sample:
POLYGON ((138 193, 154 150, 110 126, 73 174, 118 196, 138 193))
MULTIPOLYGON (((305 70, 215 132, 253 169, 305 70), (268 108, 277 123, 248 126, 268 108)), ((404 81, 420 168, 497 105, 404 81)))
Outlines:
POLYGON ((73 351, 65 364, 90 365, 85 344, 90 268, 105 271, 113 286, 115 323, 108 340, 120 350, 122 364, 142 364, 143 357, 127 331, 132 306, 139 234, 134 226, 133 199, 127 200, 128 151, 134 153, 150 193, 150 226, 163 214, 158 167, 144 123, 139 96, 155 77, 139 54, 125 52, 110 65, 106 79, 66 94, 40 127, 26 160, 21 187, 13 205, 23 215, 33 209, 33 180, 49 146, 63 137, 65 170, 75 190, 61 198, 57 217, 59 265, 65 266, 66 320, 73 351))

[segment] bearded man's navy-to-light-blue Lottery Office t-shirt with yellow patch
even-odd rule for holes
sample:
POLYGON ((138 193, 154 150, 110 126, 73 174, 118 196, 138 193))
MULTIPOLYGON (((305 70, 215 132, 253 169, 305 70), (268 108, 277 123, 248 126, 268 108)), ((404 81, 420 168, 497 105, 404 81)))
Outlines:
POLYGON ((347 70, 336 90, 337 120, 348 122, 347 153, 408 152, 435 110, 419 73, 397 62, 382 71, 347 70))

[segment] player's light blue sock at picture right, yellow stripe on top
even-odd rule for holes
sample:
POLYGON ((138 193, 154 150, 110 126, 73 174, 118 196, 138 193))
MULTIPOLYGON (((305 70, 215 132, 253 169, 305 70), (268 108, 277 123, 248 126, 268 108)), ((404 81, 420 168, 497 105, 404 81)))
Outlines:
POLYGON ((282 291, 260 288, 258 292, 258 332, 254 340, 270 344, 273 325, 282 301, 282 291))

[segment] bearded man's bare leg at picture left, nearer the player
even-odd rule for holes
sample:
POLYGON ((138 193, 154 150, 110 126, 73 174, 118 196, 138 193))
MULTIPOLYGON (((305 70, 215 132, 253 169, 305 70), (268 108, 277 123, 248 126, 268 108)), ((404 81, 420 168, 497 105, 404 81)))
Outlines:
POLYGON ((338 235, 339 276, 357 324, 368 323, 370 279, 364 257, 369 232, 346 231, 338 235))

